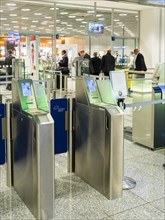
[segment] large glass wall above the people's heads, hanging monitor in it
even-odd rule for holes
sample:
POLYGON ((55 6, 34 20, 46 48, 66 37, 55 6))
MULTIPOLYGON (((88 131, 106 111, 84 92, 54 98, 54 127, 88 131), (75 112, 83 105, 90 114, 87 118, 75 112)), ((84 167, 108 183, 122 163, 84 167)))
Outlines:
MULTIPOLYGON (((12 47, 17 57, 30 56, 30 37, 36 36, 36 57, 50 68, 49 59, 68 51, 70 64, 80 49, 102 56, 129 56, 138 42, 138 11, 90 5, 1 0, 0 52, 12 47), (48 58, 47 58, 48 57, 48 58)), ((56 57, 57 58, 57 57, 56 57)), ((51 59, 50 59, 51 60, 51 59)))

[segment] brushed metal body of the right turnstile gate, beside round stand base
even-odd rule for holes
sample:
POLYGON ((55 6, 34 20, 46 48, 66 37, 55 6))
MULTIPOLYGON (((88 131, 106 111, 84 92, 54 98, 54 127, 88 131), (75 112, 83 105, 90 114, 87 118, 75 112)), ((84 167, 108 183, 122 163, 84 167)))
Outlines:
POLYGON ((120 198, 123 112, 117 106, 91 105, 83 77, 77 78, 76 89, 75 173, 108 199, 120 198))

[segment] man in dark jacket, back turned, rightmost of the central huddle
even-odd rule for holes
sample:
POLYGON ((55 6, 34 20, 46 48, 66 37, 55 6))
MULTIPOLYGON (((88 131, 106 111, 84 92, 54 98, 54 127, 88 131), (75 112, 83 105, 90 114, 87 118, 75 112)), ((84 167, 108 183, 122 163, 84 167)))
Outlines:
POLYGON ((107 54, 102 57, 101 70, 105 76, 109 76, 109 71, 115 70, 115 57, 111 55, 111 50, 107 50, 107 54))

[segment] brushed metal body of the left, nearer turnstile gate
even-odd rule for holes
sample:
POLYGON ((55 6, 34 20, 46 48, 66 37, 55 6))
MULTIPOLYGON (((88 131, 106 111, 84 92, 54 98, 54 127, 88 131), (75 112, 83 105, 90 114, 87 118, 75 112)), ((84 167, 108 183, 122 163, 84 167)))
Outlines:
POLYGON ((46 112, 23 111, 17 81, 12 85, 13 186, 37 219, 50 219, 54 210, 54 121, 46 112))

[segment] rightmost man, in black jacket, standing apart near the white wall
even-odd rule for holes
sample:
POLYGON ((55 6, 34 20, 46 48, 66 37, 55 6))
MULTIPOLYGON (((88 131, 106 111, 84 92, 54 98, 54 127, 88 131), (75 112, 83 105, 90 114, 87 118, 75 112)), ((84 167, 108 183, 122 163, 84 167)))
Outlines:
MULTIPOLYGON (((144 56, 139 52, 138 49, 134 49, 134 54, 135 54, 134 69, 137 71, 147 71, 144 56)), ((139 74, 137 75, 137 78, 139 77, 144 78, 144 76, 145 74, 139 74)))

